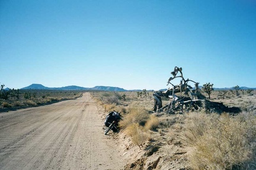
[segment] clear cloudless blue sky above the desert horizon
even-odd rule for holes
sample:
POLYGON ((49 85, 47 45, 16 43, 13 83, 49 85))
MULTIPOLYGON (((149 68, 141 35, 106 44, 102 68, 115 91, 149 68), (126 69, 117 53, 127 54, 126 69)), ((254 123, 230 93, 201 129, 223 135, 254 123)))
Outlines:
POLYGON ((256 87, 256 1, 0 0, 8 88, 163 89, 175 66, 213 88, 256 87))

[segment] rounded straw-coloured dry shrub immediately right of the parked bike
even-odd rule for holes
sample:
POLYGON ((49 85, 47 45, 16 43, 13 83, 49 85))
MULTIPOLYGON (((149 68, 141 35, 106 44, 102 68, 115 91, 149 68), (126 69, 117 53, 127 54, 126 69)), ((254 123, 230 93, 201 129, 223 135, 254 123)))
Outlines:
POLYGON ((140 126, 144 126, 149 118, 148 112, 142 107, 130 108, 128 114, 124 115, 123 120, 120 121, 120 127, 126 128, 130 124, 138 123, 140 126))

